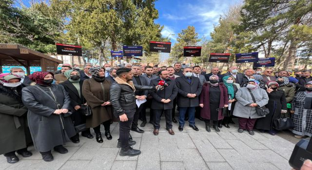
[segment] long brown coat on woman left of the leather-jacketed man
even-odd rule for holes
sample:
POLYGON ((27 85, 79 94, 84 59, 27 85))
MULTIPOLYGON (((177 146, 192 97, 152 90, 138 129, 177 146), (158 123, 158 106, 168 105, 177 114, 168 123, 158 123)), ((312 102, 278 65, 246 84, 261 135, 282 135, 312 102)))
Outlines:
POLYGON ((94 78, 83 81, 82 95, 86 99, 92 110, 92 116, 87 117, 87 128, 97 127, 104 121, 112 119, 112 105, 101 106, 101 104, 110 100, 110 86, 111 82, 108 80, 105 80, 102 85, 94 78))

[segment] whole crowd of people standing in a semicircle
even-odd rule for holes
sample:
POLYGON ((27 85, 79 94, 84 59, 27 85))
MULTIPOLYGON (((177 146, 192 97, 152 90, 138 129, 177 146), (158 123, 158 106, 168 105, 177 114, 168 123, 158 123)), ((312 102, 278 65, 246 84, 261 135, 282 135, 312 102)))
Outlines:
POLYGON ((157 136, 162 115, 170 135, 175 135, 173 123, 183 131, 188 121, 198 131, 195 122, 204 121, 207 132, 211 127, 220 132, 222 127, 231 128, 234 118, 238 118, 238 133, 246 130, 254 135, 258 129, 275 135, 274 121, 287 117, 292 120, 294 136, 302 138, 312 136, 312 110, 304 108, 310 94, 311 70, 239 71, 233 66, 222 74, 219 68, 207 73, 205 68, 185 63, 173 67, 86 63, 83 69, 63 64, 54 73, 26 76, 22 68, 14 67, 0 74, 0 154, 8 163, 16 163, 16 153, 31 156, 27 147, 33 144, 49 162, 54 159, 52 149, 68 153, 63 145, 79 143, 79 133, 94 138, 90 128, 98 143, 103 142, 101 125, 104 136, 111 140, 110 125, 119 121, 119 155, 135 156, 140 151, 131 147, 136 141, 130 131, 144 133, 141 128, 149 122, 157 136))

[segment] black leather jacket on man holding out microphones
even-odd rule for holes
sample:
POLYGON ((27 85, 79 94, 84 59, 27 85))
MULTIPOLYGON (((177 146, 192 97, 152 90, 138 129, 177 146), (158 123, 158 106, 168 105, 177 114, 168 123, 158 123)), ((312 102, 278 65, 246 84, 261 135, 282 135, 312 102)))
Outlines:
MULTIPOLYGON (((153 86, 134 85, 136 90, 152 90, 153 86)), ((129 85, 113 83, 109 89, 110 102, 114 108, 114 115, 116 117, 123 115, 124 110, 136 108, 136 95, 129 85)))

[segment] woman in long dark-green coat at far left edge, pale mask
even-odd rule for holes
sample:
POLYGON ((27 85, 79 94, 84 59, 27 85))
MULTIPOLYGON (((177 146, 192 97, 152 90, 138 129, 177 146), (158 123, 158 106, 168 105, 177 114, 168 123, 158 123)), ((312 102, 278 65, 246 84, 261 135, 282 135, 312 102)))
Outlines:
POLYGON ((27 108, 21 102, 19 77, 8 74, 0 82, 0 154, 13 164, 19 161, 15 152, 23 157, 32 155, 27 151, 27 145, 32 142, 27 126, 27 108))

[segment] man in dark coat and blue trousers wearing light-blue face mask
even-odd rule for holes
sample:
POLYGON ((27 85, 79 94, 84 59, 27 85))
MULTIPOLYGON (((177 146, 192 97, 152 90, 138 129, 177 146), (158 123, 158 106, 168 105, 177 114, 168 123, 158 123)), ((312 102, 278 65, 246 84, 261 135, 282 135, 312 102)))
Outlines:
POLYGON ((195 107, 199 106, 198 96, 201 93, 202 85, 197 77, 192 76, 192 68, 184 68, 184 76, 176 78, 178 88, 177 106, 179 106, 179 131, 183 131, 184 117, 189 114, 189 124, 195 131, 195 107))

